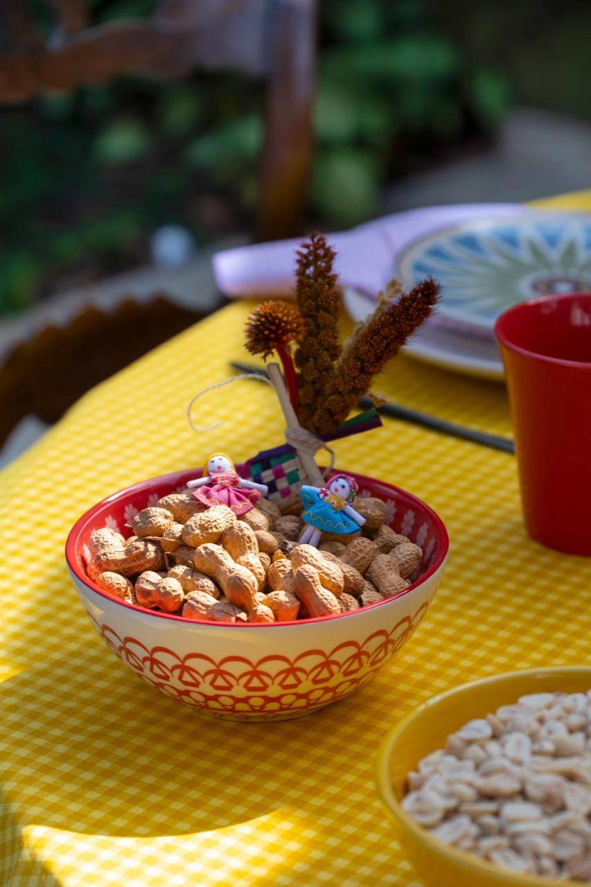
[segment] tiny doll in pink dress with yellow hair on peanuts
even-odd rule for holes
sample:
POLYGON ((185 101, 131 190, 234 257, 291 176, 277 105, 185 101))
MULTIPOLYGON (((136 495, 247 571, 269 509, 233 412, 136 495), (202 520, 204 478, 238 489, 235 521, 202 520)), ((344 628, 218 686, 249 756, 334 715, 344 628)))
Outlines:
POLYGON ((223 452, 215 452, 203 468, 203 476, 197 481, 189 481, 187 487, 200 487, 192 493, 194 499, 208 507, 227 505, 236 515, 246 514, 256 506, 261 493, 268 487, 264 483, 245 481, 236 472, 232 459, 223 452), (248 492, 242 492, 242 489, 248 492))

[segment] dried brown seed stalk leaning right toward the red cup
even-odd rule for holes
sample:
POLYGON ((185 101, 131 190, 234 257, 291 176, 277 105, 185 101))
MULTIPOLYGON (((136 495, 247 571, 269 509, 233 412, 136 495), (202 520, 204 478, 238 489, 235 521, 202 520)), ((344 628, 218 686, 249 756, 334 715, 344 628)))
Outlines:
POLYGON ((398 302, 378 306, 343 351, 334 375, 327 381, 326 394, 306 428, 314 434, 330 434, 347 418, 374 376, 429 317, 440 288, 428 278, 402 294, 398 302))

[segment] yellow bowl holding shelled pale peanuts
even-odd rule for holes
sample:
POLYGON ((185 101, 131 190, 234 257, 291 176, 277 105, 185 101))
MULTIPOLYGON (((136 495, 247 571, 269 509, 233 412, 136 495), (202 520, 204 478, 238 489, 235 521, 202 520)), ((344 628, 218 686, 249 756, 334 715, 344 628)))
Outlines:
POLYGON ((429 835, 400 806, 406 775, 422 757, 445 748, 447 735, 472 718, 485 718, 500 705, 530 693, 587 693, 591 668, 548 668, 512 671, 464 684, 438 696, 402 718, 387 734, 377 761, 377 786, 388 819, 425 887, 565 887, 580 883, 538 875, 517 875, 477 856, 456 850, 429 835))

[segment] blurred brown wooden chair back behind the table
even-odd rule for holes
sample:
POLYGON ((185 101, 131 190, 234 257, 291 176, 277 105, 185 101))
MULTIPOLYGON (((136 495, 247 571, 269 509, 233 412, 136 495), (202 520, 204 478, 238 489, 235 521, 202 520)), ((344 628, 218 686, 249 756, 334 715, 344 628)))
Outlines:
POLYGON ((311 163, 316 0, 159 0, 150 20, 91 24, 83 0, 0 0, 0 104, 120 75, 232 69, 267 83, 257 239, 303 232, 311 163))

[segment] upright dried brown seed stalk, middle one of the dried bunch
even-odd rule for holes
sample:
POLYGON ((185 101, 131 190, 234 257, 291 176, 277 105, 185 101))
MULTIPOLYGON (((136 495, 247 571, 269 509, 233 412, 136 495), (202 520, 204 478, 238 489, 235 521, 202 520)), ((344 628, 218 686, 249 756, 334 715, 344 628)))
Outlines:
POLYGON ((296 302, 306 329, 295 357, 299 370, 298 419, 303 428, 309 429, 341 354, 337 326, 341 295, 333 272, 334 258, 335 251, 319 232, 311 233, 297 251, 296 302))

